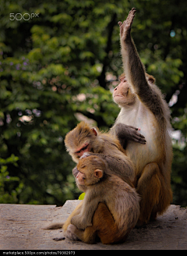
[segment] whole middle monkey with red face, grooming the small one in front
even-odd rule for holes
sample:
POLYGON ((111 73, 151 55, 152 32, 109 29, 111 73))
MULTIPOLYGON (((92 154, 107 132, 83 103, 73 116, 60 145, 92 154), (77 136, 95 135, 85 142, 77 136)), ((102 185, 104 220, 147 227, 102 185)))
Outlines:
MULTIPOLYGON (((135 179, 135 172, 132 161, 125 155, 125 150, 122 148, 118 139, 113 135, 101 133, 97 128, 90 128, 87 123, 81 122, 76 128, 66 134, 65 147, 76 163, 79 162, 81 157, 97 155, 110 166, 110 169, 106 169, 106 174, 114 174, 125 181, 125 183, 128 183, 130 187, 134 187, 133 181, 135 179)), ((72 174, 75 177, 78 172, 77 167, 72 170, 72 174)), ((79 185, 79 188, 86 192, 85 185, 79 185)), ((51 226, 45 229, 56 229, 63 226, 63 230, 66 233, 72 217, 78 215, 82 208, 83 201, 81 201, 72 214, 69 215, 69 218, 64 224, 51 224, 51 226)), ((89 224, 90 223, 87 222, 87 225, 89 224)))

